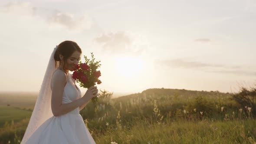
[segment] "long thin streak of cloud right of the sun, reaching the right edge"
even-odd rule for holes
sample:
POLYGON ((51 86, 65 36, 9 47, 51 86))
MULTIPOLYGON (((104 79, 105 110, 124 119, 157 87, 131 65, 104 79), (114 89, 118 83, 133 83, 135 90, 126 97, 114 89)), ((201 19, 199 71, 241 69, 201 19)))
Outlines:
POLYGON ((182 59, 156 60, 155 65, 164 69, 183 68, 202 70, 204 72, 228 73, 235 75, 256 76, 256 71, 246 70, 241 65, 220 65, 206 62, 185 61, 182 59), (217 70, 209 70, 217 69, 217 70))

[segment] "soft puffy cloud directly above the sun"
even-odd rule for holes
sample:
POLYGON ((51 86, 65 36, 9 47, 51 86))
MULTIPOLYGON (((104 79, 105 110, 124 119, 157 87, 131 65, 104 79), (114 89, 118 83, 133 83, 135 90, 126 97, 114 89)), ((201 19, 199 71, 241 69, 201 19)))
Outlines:
POLYGON ((148 44, 140 36, 124 31, 102 34, 95 37, 94 41, 106 52, 125 53, 126 55, 140 55, 148 44))

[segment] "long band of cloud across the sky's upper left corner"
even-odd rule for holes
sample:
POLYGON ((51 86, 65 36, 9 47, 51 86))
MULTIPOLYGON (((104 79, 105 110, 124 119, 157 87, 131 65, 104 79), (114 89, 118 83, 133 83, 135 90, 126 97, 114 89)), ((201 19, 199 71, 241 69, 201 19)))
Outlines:
POLYGON ((39 17, 50 26, 64 26, 70 30, 89 29, 92 20, 87 15, 75 17, 72 13, 65 13, 59 10, 52 10, 42 7, 33 7, 28 2, 9 2, 0 7, 0 12, 10 13, 16 16, 39 17))

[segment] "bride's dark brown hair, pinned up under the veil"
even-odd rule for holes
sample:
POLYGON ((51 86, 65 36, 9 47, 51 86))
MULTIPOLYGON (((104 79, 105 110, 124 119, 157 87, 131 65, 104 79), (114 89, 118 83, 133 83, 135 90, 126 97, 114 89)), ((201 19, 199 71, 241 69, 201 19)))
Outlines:
MULTIPOLYGON (((54 54, 54 60, 55 60, 55 67, 57 68, 57 61, 60 62, 60 58, 59 58, 59 54, 61 54, 63 56, 63 60, 64 60, 64 65, 66 64, 66 60, 73 54, 73 52, 78 51, 80 53, 82 53, 81 48, 78 46, 77 43, 70 41, 70 40, 66 40, 64 42, 61 42, 58 47, 57 50, 54 54)), ((64 70, 66 70, 63 67, 64 70)))

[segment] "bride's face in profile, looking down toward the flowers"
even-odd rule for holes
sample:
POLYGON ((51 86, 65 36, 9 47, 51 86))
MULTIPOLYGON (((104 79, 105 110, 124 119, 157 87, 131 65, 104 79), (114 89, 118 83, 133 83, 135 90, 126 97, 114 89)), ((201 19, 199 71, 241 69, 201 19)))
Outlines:
POLYGON ((74 71, 73 65, 78 64, 81 53, 78 51, 73 52, 73 54, 66 59, 66 65, 65 68, 68 69, 69 71, 74 71))

